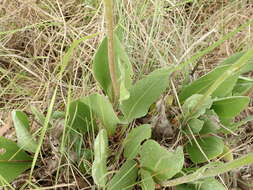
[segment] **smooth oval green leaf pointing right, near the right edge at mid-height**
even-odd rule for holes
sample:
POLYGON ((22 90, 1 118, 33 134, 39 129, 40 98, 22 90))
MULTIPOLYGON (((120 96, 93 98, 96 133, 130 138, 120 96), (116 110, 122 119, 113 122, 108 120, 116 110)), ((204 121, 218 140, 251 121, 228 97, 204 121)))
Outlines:
POLYGON ((248 103, 247 96, 232 96, 215 100, 212 109, 220 118, 234 118, 246 108, 248 103))

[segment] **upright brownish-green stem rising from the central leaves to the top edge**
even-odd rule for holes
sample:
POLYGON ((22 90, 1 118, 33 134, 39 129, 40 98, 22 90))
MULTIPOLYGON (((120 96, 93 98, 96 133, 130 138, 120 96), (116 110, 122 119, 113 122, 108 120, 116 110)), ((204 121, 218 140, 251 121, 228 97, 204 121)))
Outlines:
POLYGON ((116 69, 114 63, 114 45, 113 45, 113 0, 104 0, 105 17, 106 17, 106 29, 108 38, 108 63, 110 76, 112 80, 113 97, 117 100, 119 97, 119 88, 116 78, 116 69))

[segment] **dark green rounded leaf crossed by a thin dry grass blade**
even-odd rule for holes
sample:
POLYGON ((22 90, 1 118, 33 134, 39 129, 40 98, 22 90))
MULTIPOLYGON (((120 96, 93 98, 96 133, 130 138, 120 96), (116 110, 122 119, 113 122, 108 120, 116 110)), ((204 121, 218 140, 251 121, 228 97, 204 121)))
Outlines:
MULTIPOLYGON (((220 154, 222 154, 224 149, 223 141, 215 136, 199 138, 197 139, 197 142, 209 160, 218 157, 220 154)), ((198 145, 193 140, 188 142, 186 145, 186 151, 189 154, 191 161, 196 164, 207 161, 206 157, 202 154, 202 151, 200 151, 198 145)))

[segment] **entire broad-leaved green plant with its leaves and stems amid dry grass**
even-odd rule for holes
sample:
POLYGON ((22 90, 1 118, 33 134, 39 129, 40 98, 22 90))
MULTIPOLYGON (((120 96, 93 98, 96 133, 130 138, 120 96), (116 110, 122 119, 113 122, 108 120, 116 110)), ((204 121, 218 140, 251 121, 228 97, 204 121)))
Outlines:
MULTIPOLYGON (((253 70, 253 48, 229 57, 211 72, 183 85, 175 99, 181 110, 177 131, 184 140, 174 150, 152 139, 151 124, 142 123, 131 130, 130 126, 133 126, 134 120, 148 114, 150 106, 169 88, 173 73, 231 38, 252 20, 189 61, 157 69, 133 83, 130 59, 118 37, 118 30, 114 30, 113 1, 104 0, 104 8, 107 35, 93 60, 93 75, 103 93, 72 101, 65 113, 68 128, 84 136, 95 135, 93 156, 90 158, 94 184, 107 190, 130 190, 136 186, 143 190, 159 187, 174 187, 176 190, 226 189, 216 176, 253 163, 253 153, 234 159, 233 152, 222 138, 224 134, 235 134, 239 126, 253 120, 249 116, 234 122, 250 101, 247 95, 252 90, 253 79, 243 74, 253 70), (115 153, 109 145, 113 138, 122 134, 124 139, 120 143, 120 151, 115 153), (185 158, 191 163, 188 167, 185 166, 185 158)), ((82 40, 85 39, 88 38, 82 40)), ((36 109, 33 113, 44 126, 45 123, 50 125, 50 116, 45 118, 36 109)), ((12 116, 18 144, 0 137, 0 149, 5 150, 0 153, 2 184, 8 184, 21 172, 34 167, 37 157, 32 158, 25 151, 36 153, 42 143, 35 142, 29 133, 28 118, 23 112, 13 111, 12 116), (12 172, 6 172, 12 169, 12 172)), ((89 168, 84 167, 84 170, 89 168)))

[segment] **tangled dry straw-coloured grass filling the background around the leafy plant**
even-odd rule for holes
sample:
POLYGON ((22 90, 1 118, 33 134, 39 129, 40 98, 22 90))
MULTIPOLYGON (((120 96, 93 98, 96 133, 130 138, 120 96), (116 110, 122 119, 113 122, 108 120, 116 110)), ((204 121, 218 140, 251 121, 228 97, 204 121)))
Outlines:
MULTIPOLYGON (((156 67, 180 64, 200 49, 208 47, 252 18, 253 4, 246 0, 119 0, 115 13, 117 23, 122 28, 122 41, 139 78, 156 67)), ((97 91, 90 71, 92 57, 104 36, 103 23, 102 4, 98 0, 0 1, 0 126, 8 124, 9 131, 12 131, 10 118, 6 117, 12 109, 30 113, 30 106, 35 105, 46 112, 56 85, 60 88, 55 109, 60 110, 66 106, 69 89, 72 98, 97 91), (75 50, 59 80, 60 65, 71 43, 95 33, 99 35, 81 43, 75 50)), ((193 77, 207 72, 221 59, 251 47, 252 34, 249 26, 204 56, 193 77)), ((192 63, 185 73, 190 72, 195 64, 192 63)), ((182 75, 182 78, 185 76, 182 75)), ((33 124, 36 128, 35 122, 33 124)), ((11 132, 8 134, 10 137, 14 135, 11 132)), ((48 139, 46 144, 50 144, 51 140, 48 139)), ((252 131, 246 133, 243 130, 230 143, 236 154, 252 151, 252 131)), ((46 148, 43 151, 47 152, 46 148)), ((81 183, 79 188, 91 188, 89 175, 80 174, 69 158, 62 166, 60 180, 50 178, 57 166, 51 163, 53 156, 53 153, 48 155, 44 162, 49 173, 41 180, 45 178, 48 181, 40 183, 37 177, 38 181, 34 183, 52 186, 78 182, 81 183)), ((247 175, 251 171, 249 167, 243 169, 247 175)), ((229 189, 235 186, 231 179, 226 180, 229 189)), ((72 184, 70 188, 77 187, 72 184)))

